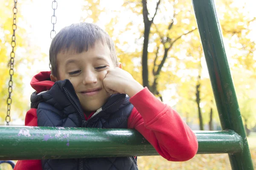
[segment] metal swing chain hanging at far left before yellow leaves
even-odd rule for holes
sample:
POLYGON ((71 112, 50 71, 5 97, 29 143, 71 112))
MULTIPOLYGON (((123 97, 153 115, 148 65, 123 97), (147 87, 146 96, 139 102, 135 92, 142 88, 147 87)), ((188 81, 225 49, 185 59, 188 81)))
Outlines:
POLYGON ((14 48, 16 46, 16 37, 15 37, 15 31, 17 29, 16 26, 16 16, 17 16, 17 0, 14 0, 14 8, 12 9, 13 11, 13 24, 12 24, 12 30, 13 30, 13 34, 12 34, 12 52, 10 54, 11 59, 9 61, 9 65, 10 65, 10 80, 9 80, 9 88, 8 88, 8 92, 9 92, 9 97, 7 99, 7 116, 6 116, 6 125, 9 125, 9 122, 11 121, 11 117, 10 117, 10 112, 11 112, 11 104, 12 104, 12 98, 11 98, 11 94, 12 94, 12 76, 14 74, 14 57, 15 57, 15 52, 14 52, 14 48))

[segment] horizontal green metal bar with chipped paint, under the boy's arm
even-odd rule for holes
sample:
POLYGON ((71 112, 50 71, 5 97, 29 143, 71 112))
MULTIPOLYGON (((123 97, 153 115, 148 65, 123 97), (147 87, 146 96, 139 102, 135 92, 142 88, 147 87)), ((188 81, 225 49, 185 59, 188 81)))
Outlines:
MULTIPOLYGON (((239 153, 234 131, 195 131, 198 153, 239 153)), ((136 130, 0 126, 0 160, 158 155, 136 130)))

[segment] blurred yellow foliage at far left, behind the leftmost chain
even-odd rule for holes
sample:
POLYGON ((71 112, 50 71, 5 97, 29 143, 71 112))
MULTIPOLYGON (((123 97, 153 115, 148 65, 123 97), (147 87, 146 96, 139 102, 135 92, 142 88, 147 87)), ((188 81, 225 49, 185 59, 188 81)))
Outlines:
MULTIPOLYGON (((10 79, 9 75, 9 66, 8 62, 10 59, 11 52, 11 41, 12 41, 12 24, 13 24, 13 11, 12 8, 14 6, 12 1, 9 0, 1 0, 0 3, 0 96, 1 96, 1 106, 0 106, 0 122, 3 122, 6 117, 7 105, 6 100, 9 96, 8 93, 8 83, 10 79)), ((19 10, 20 5, 17 4, 17 8, 19 10)), ((18 11, 19 12, 19 11, 18 11)), ((16 46, 15 46, 15 66, 14 66, 14 75, 12 77, 13 80, 13 91, 12 91, 12 106, 11 106, 11 117, 12 113, 22 115, 24 110, 28 105, 26 105, 26 99, 23 99, 23 82, 22 76, 19 74, 18 65, 23 61, 17 53, 17 48, 26 47, 26 41, 23 40, 22 35, 25 30, 20 28, 18 23, 20 20, 20 15, 17 13, 17 30, 15 31, 16 36, 16 46)))

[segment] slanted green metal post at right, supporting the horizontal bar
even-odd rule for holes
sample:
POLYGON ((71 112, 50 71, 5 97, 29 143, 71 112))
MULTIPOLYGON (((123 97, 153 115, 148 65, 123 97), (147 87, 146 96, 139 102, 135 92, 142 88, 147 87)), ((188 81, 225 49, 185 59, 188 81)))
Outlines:
POLYGON ((243 139, 243 151, 229 154, 231 167, 233 170, 253 170, 214 0, 192 0, 192 3, 222 129, 234 130, 243 139))

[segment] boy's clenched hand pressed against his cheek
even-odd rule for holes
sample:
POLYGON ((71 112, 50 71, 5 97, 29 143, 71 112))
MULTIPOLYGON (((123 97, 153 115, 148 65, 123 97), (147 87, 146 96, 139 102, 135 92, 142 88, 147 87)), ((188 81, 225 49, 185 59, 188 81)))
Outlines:
POLYGON ((108 70, 105 79, 103 79, 103 85, 108 93, 127 94, 129 97, 143 89, 143 86, 130 73, 118 67, 108 70))

